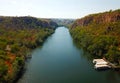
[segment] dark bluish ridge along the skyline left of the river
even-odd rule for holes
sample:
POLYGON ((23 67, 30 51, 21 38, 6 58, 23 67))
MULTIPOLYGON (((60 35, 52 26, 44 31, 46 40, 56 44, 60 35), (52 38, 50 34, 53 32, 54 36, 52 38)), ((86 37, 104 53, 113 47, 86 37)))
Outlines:
POLYGON ((12 28, 56 28, 57 23, 48 20, 30 16, 11 17, 0 16, 0 26, 12 28))

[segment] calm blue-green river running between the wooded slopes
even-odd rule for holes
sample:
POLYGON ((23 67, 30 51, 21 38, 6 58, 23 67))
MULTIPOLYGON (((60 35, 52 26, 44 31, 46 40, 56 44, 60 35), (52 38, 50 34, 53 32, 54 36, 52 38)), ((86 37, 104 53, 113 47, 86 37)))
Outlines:
POLYGON ((18 83, 120 83, 120 73, 96 71, 85 54, 74 45, 69 30, 59 27, 32 52, 18 83))

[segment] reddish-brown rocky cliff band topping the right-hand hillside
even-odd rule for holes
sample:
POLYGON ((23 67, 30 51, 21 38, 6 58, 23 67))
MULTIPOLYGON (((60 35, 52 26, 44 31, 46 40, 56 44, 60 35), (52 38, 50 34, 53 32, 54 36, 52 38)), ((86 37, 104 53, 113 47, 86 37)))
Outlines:
POLYGON ((77 19, 72 28, 75 28, 76 26, 86 26, 91 23, 109 23, 109 22, 116 22, 120 21, 120 9, 115 11, 109 11, 104 13, 98 13, 98 14, 91 14, 84 18, 77 19))

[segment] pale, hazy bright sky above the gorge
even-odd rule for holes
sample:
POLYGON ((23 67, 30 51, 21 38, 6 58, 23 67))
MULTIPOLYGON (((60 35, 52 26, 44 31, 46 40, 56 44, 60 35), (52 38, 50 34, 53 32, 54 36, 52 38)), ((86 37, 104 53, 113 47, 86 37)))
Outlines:
POLYGON ((120 9, 120 0, 0 0, 0 16, 81 18, 120 9))

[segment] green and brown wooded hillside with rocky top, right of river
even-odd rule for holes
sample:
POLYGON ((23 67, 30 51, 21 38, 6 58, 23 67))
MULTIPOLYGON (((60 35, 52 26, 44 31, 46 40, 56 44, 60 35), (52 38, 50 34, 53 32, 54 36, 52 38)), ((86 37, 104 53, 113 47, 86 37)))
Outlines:
POLYGON ((120 9, 77 19, 70 32, 92 56, 120 65, 120 9))

